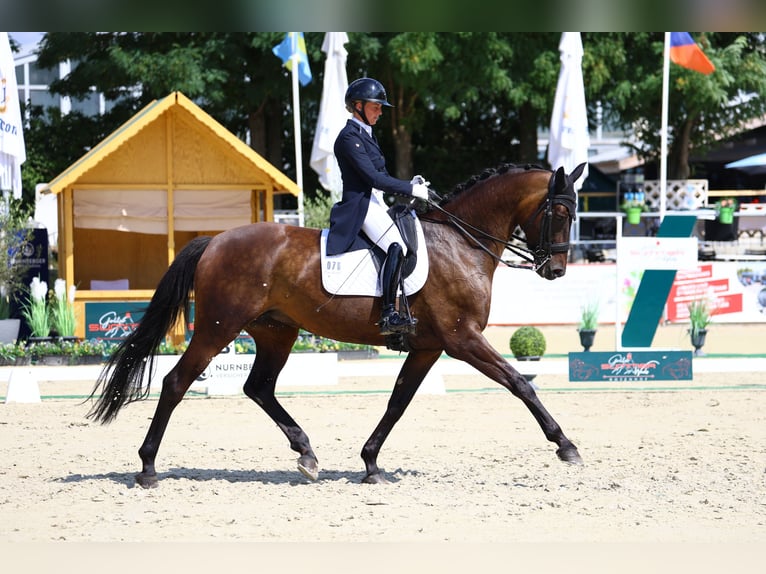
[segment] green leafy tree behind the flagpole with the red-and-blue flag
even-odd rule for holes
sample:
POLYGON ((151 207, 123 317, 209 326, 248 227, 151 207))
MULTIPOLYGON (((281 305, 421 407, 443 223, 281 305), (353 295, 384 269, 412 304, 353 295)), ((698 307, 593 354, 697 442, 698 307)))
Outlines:
MULTIPOLYGON (((755 34, 693 35, 716 71, 705 76, 675 64, 670 68, 668 177, 690 175, 689 156, 743 129, 766 113, 766 53, 755 34)), ((611 120, 641 142, 649 162, 660 153, 663 34, 587 34, 593 51, 608 58, 610 85, 601 92, 611 120), (595 47, 595 48, 594 48, 595 47)), ((590 48, 590 50, 589 50, 590 48)), ((590 51, 590 54, 589 54, 590 51)), ((585 63, 584 63, 585 66, 585 63)), ((587 76, 586 76, 587 77, 587 76)))

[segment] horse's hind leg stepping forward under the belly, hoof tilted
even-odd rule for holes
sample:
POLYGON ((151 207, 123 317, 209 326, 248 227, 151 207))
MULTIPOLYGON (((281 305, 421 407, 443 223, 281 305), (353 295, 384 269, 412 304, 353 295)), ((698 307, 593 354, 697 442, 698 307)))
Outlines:
MULTIPOLYGON (((256 356, 250 376, 245 381, 245 394, 253 399, 285 433, 290 448, 297 452, 298 470, 311 480, 319 476, 319 461, 309 437, 279 403, 274 395, 277 377, 290 357, 298 329, 271 324, 263 330, 248 330, 256 345, 256 356)), ((307 375, 310 376, 310 375, 307 375)))

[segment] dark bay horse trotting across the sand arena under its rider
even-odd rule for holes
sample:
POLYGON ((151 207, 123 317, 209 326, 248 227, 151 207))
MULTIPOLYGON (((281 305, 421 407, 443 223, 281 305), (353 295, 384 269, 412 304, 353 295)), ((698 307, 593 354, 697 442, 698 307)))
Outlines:
MULTIPOLYGON (((573 182, 567 175, 526 166, 487 170, 460 193, 421 215, 429 251, 429 275, 409 297, 418 319, 407 335, 409 353, 388 406, 362 448, 363 482, 387 482, 378 468, 378 453, 404 414, 419 385, 444 351, 496 381, 521 399, 543 430, 558 445, 566 462, 580 463, 577 447, 540 402, 532 386, 484 338, 492 277, 518 227, 527 248, 519 252, 545 279, 566 272, 569 233, 576 213, 573 182)), ((182 249, 160 280, 137 329, 111 355, 91 399, 88 417, 112 421, 127 403, 145 398, 153 357, 169 329, 194 296, 195 331, 186 352, 163 380, 159 402, 139 448, 143 469, 136 481, 157 484, 155 457, 170 416, 210 360, 241 330, 256 343, 253 368, 244 392, 277 423, 299 470, 316 480, 319 465, 309 438, 277 401, 277 377, 299 329, 339 341, 383 345, 375 322, 380 299, 332 297, 322 287, 319 230, 276 223, 255 223, 213 238, 198 237, 182 249), (100 391, 100 394, 99 394, 100 391)), ((509 295, 510 296, 510 295, 509 295)), ((310 373, 306 377, 310 377, 310 373)))

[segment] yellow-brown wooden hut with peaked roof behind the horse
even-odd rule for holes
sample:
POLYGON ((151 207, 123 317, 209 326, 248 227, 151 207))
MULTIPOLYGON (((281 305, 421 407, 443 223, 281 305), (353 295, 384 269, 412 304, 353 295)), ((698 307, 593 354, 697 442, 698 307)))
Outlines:
POLYGON ((43 187, 58 198, 59 277, 88 303, 147 301, 198 235, 273 220, 297 185, 190 99, 147 105, 43 187))

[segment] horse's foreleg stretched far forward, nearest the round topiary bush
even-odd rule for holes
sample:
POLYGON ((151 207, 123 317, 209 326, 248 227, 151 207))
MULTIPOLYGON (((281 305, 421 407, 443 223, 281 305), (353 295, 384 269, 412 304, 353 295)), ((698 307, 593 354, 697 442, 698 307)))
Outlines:
POLYGON ((576 464, 582 463, 577 447, 564 435, 559 424, 540 402, 529 381, 495 351, 481 334, 470 341, 463 339, 459 346, 448 349, 447 352, 456 359, 461 359, 475 367, 521 399, 537 420, 545 437, 558 445, 556 454, 561 460, 576 464))

